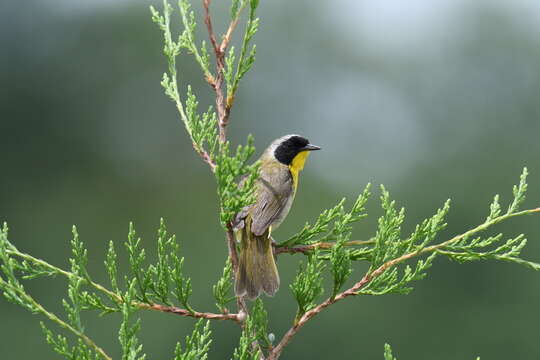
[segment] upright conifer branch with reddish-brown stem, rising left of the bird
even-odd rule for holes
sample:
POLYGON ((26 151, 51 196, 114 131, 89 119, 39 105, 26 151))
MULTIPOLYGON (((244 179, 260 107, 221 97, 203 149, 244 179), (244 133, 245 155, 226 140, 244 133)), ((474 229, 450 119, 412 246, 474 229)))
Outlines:
MULTIPOLYGON (((204 22, 208 32, 211 46, 213 48, 216 61, 216 75, 212 75, 208 64, 208 54, 204 42, 201 51, 195 43, 195 19, 193 11, 190 10, 189 2, 181 0, 179 2, 182 23, 184 31, 175 43, 172 40, 170 29, 170 9, 171 6, 167 0, 163 2, 163 15, 151 7, 152 18, 164 33, 165 50, 169 64, 169 73, 163 76, 162 85, 165 88, 165 93, 176 103, 180 112, 188 134, 190 135, 195 151, 201 158, 210 165, 211 170, 215 173, 218 181, 218 195, 221 203, 221 222, 226 232, 227 247, 229 249, 229 257, 232 263, 232 272, 236 274, 238 268, 238 255, 234 233, 232 229, 232 218, 234 214, 240 211, 244 206, 253 202, 254 183, 258 173, 258 165, 248 165, 248 159, 255 151, 252 145, 252 139, 248 138, 248 145, 238 147, 235 155, 230 153, 230 145, 227 142, 226 127, 229 122, 229 114, 231 106, 225 104, 224 81, 225 81, 225 52, 227 51, 233 31, 238 25, 240 16, 244 8, 250 4, 251 14, 254 13, 258 5, 255 0, 241 0, 238 6, 238 0, 233 0, 231 7, 231 23, 225 33, 223 40, 218 44, 216 34, 213 28, 212 17, 210 14, 211 0, 203 0, 204 22), (201 65, 207 82, 214 89, 216 95, 216 114, 209 109, 204 116, 197 114, 197 100, 195 95, 188 87, 188 94, 185 102, 182 102, 178 93, 177 85, 177 70, 175 58, 180 53, 180 49, 185 48, 190 53, 194 54, 197 62, 201 65), (185 103, 185 104, 184 104, 185 103), (218 131, 215 131, 215 129, 218 131), (206 146, 205 146, 206 145, 206 146), (232 176, 231 176, 232 175, 232 176), (247 181, 244 186, 240 187, 238 181, 241 177, 247 176, 247 181)), ((256 28, 246 27, 246 34, 249 33, 251 38, 256 32, 256 28)), ((251 58, 251 63, 254 61, 251 58)), ((231 63, 227 64, 229 67, 231 63)), ((251 65, 250 65, 251 66, 251 65)), ((244 68, 243 68, 244 69, 244 68)), ((247 72, 245 69, 244 73, 247 72)), ((230 73, 230 72, 229 72, 230 73)), ((230 76, 228 76, 229 79, 230 76)), ((227 80, 229 83, 230 80, 227 80)), ((139 282, 141 284, 141 282, 139 282)), ((143 295, 144 296, 144 295, 143 295)), ((240 319, 245 317, 247 307, 244 299, 237 298, 238 313, 240 319)), ((190 310, 190 309, 187 309, 190 310)), ((192 312, 192 311, 191 311, 192 312)))

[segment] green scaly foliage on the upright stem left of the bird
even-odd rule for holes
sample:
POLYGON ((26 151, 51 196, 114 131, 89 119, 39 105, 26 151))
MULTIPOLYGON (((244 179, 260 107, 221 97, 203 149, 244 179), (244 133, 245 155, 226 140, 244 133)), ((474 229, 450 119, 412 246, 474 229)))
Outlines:
MULTIPOLYGON (((231 12, 234 21, 238 21, 241 11, 247 6, 248 1, 232 3, 231 12)), ((223 76, 228 84, 228 109, 232 106, 234 93, 238 88, 240 79, 251 68, 255 61, 255 48, 246 57, 246 48, 255 35, 258 28, 258 19, 255 11, 258 1, 249 1, 250 12, 246 33, 242 45, 242 52, 238 60, 236 73, 233 74, 235 63, 234 49, 231 48, 229 56, 225 59, 226 67, 223 68, 223 76), (229 104, 230 102, 230 104, 229 104)), ((224 227, 228 227, 234 215, 245 206, 254 201, 254 184, 258 173, 258 164, 249 164, 250 157, 255 152, 253 137, 249 136, 245 146, 238 146, 235 153, 231 151, 228 142, 219 142, 217 135, 218 119, 216 113, 209 108, 201 117, 198 113, 198 101, 190 86, 188 86, 185 100, 182 100, 178 91, 178 74, 176 69, 176 57, 181 49, 187 49, 195 56, 195 59, 203 69, 207 81, 213 86, 218 84, 214 75, 209 70, 208 52, 203 43, 201 51, 195 43, 195 14, 187 0, 180 0, 179 9, 184 25, 184 30, 177 42, 173 40, 171 33, 172 7, 164 0, 163 13, 159 13, 154 7, 150 7, 153 21, 159 26, 164 34, 164 54, 169 65, 168 73, 163 74, 162 86, 165 93, 176 103, 180 117, 193 142, 193 147, 215 172, 218 184, 218 197, 220 201, 220 219, 224 227), (202 54, 202 55, 201 55, 202 54), (242 185, 238 182, 245 178, 242 185)), ((221 121, 221 120, 220 120, 221 121)))

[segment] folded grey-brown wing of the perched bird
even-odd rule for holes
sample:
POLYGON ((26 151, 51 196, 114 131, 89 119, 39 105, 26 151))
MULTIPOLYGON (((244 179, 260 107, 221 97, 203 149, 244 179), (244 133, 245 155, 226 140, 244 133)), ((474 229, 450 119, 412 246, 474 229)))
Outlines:
POLYGON ((276 168, 261 174, 257 184, 257 201, 252 205, 251 231, 261 236, 278 220, 292 195, 292 177, 288 169, 276 168))

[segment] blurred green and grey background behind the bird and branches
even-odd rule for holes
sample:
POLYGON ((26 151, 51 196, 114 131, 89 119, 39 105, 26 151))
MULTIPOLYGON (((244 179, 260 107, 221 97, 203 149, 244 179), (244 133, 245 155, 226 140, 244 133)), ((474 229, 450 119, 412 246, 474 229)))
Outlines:
MULTIPOLYGON (((105 281, 108 241, 121 249, 134 221, 152 254, 164 217, 181 241, 193 304, 210 311, 226 247, 214 180, 159 85, 166 64, 148 11, 157 2, 0 4, 0 220, 20 249, 63 267, 76 224, 91 271, 105 281)), ((223 29, 228 1, 215 3, 223 29)), ((198 2, 194 8, 200 15, 198 2)), ((257 62, 241 84, 230 136, 238 143, 252 133, 261 151, 300 133, 324 149, 309 159, 278 240, 367 182, 375 190, 384 183, 406 206, 405 232, 452 198, 441 240, 483 221, 495 193, 509 200, 523 166, 531 173, 525 207, 540 205, 538 1, 274 0, 261 1, 259 16, 257 62)), ((193 59, 182 56, 179 68, 181 86, 192 84, 202 105, 212 103, 193 59)), ((355 238, 374 234, 377 197, 355 238)), ((524 257, 540 261, 538 224, 527 217, 494 231, 525 232, 524 257)), ((282 288, 265 299, 277 338, 294 316, 288 284, 300 260, 280 257, 282 288)), ((359 269, 352 278, 360 276, 359 269)), ((26 284, 61 311, 63 279, 26 284)), ((440 258, 408 296, 331 307, 283 358, 381 359, 389 342, 400 360, 538 359, 539 300, 540 274, 531 270, 440 258)), ((149 359, 172 358, 194 324, 141 317, 149 359)), ((0 319, 0 358, 58 358, 37 316, 2 299, 0 319)), ((117 358, 118 316, 86 320, 117 358)), ((229 358, 237 326, 212 330, 210 358, 229 358)))

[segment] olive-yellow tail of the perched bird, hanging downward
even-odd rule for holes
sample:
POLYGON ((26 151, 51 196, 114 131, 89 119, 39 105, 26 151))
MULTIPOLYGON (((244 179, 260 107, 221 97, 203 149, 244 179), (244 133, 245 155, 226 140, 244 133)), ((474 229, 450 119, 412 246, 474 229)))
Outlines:
MULTIPOLYGON (((247 224, 246 224, 247 225, 247 224)), ((253 234, 249 226, 237 232, 241 253, 236 274, 237 296, 256 299, 261 291, 273 296, 279 288, 279 274, 274 260, 270 230, 261 236, 253 234)))

